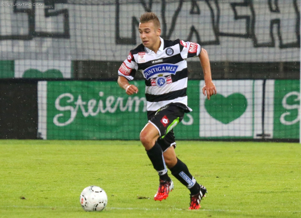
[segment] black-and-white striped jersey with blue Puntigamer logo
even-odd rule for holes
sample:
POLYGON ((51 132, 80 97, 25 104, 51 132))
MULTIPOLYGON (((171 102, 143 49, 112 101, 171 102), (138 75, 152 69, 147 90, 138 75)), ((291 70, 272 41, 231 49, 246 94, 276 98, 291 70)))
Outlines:
POLYGON ((119 76, 133 80, 136 71, 145 78, 147 111, 157 111, 170 103, 187 106, 187 58, 196 57, 201 46, 183 40, 163 40, 157 53, 140 44, 131 50, 118 70, 119 76))

